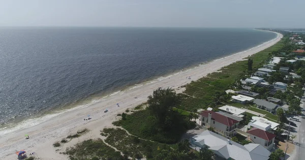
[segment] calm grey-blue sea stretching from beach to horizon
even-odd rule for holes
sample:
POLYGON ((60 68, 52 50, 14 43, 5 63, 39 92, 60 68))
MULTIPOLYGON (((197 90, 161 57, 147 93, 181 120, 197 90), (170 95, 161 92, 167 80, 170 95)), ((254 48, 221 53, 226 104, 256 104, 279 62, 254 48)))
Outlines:
POLYGON ((0 124, 275 37, 252 29, 0 28, 0 124))

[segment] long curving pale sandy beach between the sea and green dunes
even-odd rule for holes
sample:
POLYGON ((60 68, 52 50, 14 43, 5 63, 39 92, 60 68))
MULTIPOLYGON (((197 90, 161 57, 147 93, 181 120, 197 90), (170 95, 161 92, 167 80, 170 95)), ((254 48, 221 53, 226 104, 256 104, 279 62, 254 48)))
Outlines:
POLYGON ((112 126, 111 123, 118 118, 116 117, 116 114, 124 112, 126 108, 133 108, 136 105, 145 102, 147 97, 157 88, 171 87, 177 89, 191 81, 196 81, 196 79, 199 79, 208 73, 215 72, 224 66, 264 50, 279 42, 282 37, 282 34, 277 33, 275 39, 246 52, 233 54, 186 71, 180 71, 162 79, 156 79, 155 83, 108 96, 90 106, 79 107, 72 109, 71 111, 60 113, 36 126, 0 135, 0 159, 17 159, 15 152, 20 149, 24 149, 28 153, 35 152, 35 156, 40 157, 41 159, 68 159, 68 156, 59 154, 59 152, 65 151, 66 147, 72 146, 79 141, 90 138, 101 138, 100 130, 104 127, 112 126), (187 79, 187 76, 191 76, 191 79, 187 79), (120 106, 117 107, 116 103, 119 103, 120 106), (109 109, 109 111, 104 113, 106 108, 109 109), (84 121, 84 118, 86 118, 88 114, 90 114, 93 119, 91 121, 84 121), (52 146, 54 142, 60 141, 70 134, 75 134, 77 130, 84 128, 89 129, 90 132, 79 138, 75 138, 58 148, 52 146), (28 134, 30 138, 26 140, 24 137, 25 134, 28 134), (55 151, 56 149, 60 150, 55 151))

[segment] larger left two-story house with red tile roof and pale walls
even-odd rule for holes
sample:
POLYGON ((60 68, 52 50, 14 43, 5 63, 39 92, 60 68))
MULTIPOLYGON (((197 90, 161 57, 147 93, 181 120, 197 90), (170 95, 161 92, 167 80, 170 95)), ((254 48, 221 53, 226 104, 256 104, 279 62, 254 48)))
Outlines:
POLYGON ((209 110, 201 112, 199 116, 202 126, 214 128, 216 132, 229 137, 236 134, 236 129, 239 122, 235 119, 209 110))

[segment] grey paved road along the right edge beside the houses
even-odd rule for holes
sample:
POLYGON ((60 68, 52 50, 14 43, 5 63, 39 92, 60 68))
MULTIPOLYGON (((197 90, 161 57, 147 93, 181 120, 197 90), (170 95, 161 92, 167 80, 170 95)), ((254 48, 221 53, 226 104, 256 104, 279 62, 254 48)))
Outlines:
MULTIPOLYGON (((304 94, 305 95, 305 94, 304 94)), ((300 105, 303 109, 305 109, 305 102, 301 102, 300 105)), ((302 112, 305 114, 305 112, 302 112)), ((300 118, 301 125, 299 127, 297 138, 294 142, 297 144, 296 153, 293 157, 293 160, 303 160, 305 159, 305 119, 300 118)))

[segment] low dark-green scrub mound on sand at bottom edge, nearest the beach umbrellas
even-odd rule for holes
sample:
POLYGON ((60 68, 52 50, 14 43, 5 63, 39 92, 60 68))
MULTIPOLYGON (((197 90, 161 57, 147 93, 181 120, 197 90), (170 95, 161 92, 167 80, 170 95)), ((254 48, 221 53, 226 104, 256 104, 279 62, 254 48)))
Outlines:
POLYGON ((107 146, 101 139, 90 139, 77 143, 74 147, 67 148, 71 160, 85 159, 121 159, 120 152, 107 146))

